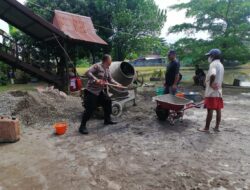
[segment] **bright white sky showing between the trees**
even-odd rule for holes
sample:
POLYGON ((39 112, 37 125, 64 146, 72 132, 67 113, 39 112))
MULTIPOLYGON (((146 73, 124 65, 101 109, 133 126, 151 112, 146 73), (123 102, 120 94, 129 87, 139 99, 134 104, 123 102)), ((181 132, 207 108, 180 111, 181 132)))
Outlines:
MULTIPOLYGON (((18 0, 18 1, 21 3, 25 2, 25 0, 18 0)), ((169 6, 178 4, 178 3, 186 3, 186 2, 189 2, 190 0, 154 0, 154 1, 161 9, 167 9, 167 21, 161 31, 161 37, 165 38, 168 43, 174 43, 178 39, 186 37, 187 35, 185 33, 168 34, 168 29, 169 27, 174 26, 176 24, 182 24, 184 22, 192 23, 194 19, 186 18, 185 10, 182 10, 182 11, 170 10, 169 6)), ((0 29, 7 32, 8 31, 7 23, 0 20, 0 29)), ((205 32, 200 32, 189 37, 207 39, 209 35, 205 32)))

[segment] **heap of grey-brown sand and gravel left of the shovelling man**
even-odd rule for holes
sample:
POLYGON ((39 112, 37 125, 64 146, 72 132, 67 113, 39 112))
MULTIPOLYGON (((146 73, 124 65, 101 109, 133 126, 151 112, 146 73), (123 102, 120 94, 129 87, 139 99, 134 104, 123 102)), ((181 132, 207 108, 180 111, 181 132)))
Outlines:
POLYGON ((80 98, 61 96, 55 91, 13 91, 1 95, 0 102, 2 115, 16 116, 26 126, 75 120, 83 110, 80 98))

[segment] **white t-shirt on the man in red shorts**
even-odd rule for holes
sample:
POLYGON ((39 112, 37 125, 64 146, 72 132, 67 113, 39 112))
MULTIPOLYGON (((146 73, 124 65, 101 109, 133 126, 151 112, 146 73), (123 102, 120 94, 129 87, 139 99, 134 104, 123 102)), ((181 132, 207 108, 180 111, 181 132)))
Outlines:
POLYGON ((214 60, 210 66, 206 76, 205 97, 222 97, 222 83, 224 78, 224 66, 220 60, 214 60), (210 86, 210 77, 215 75, 214 84, 218 85, 218 90, 214 90, 210 86))

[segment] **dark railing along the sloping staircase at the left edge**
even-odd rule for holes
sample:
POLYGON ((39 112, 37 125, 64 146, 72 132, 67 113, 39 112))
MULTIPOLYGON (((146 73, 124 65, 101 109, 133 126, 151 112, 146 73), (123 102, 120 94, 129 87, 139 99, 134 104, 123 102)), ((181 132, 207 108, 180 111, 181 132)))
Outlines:
POLYGON ((39 68, 41 71, 56 73, 57 58, 47 48, 28 46, 0 33, 0 51, 21 61, 39 68))

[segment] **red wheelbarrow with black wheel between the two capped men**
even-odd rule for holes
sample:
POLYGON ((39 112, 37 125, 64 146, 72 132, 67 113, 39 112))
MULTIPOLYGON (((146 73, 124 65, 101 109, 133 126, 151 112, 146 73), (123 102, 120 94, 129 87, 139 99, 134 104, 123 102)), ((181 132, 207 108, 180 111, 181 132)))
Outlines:
POLYGON ((157 104, 155 112, 158 119, 160 121, 168 119, 171 125, 174 125, 177 119, 181 122, 183 121, 185 110, 199 108, 203 104, 203 101, 200 103, 194 103, 193 100, 176 97, 171 94, 155 96, 153 97, 153 100, 157 104))

